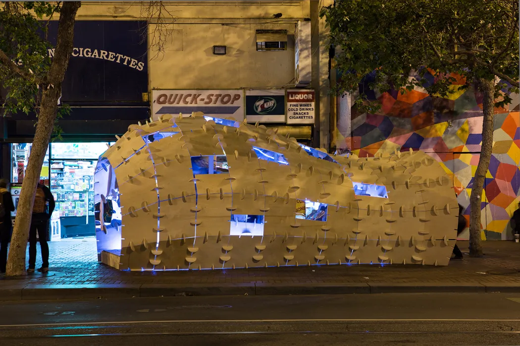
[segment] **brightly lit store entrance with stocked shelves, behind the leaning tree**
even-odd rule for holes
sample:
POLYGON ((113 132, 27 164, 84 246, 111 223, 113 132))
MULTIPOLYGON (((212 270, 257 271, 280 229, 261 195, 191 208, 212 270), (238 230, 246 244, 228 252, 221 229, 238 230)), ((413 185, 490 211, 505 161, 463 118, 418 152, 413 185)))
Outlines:
MULTIPOLYGON (((96 240, 94 220, 94 171, 107 142, 50 143, 40 181, 56 201, 50 218, 50 241, 96 240)), ((16 207, 32 143, 11 144, 11 193, 16 207)))

